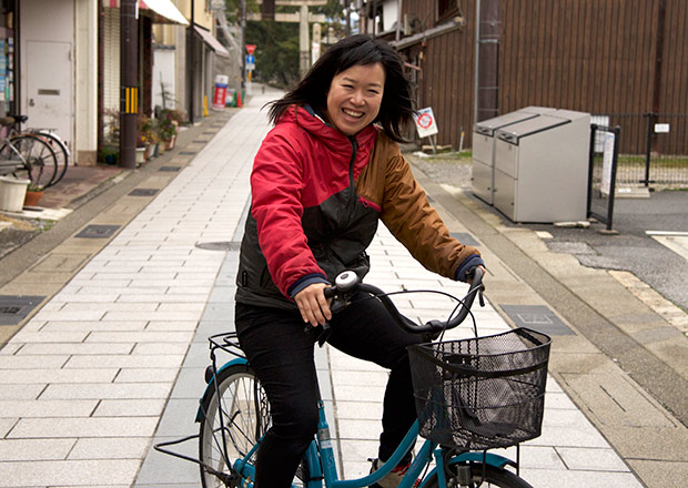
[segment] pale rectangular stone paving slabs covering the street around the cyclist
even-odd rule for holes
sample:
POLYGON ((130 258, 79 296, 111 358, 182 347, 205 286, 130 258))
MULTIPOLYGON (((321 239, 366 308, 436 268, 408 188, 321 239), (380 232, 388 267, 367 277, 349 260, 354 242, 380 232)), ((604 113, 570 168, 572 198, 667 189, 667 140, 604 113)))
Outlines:
MULTIPOLYGON (((252 159, 267 130, 260 108, 270 95, 253 96, 0 350, 0 487, 200 485, 194 465, 151 445, 198 430, 205 338, 233 317, 237 252, 212 244, 241 236, 252 159)), ((436 204, 452 232, 475 238, 436 204)), ((477 244, 494 301, 520 281, 477 244)), ((465 291, 423 270, 384 228, 371 255, 368 281, 383 289, 465 291)), ((428 319, 448 308, 418 297, 404 311, 428 319)), ((476 316, 482 333, 508 328, 493 305, 476 316)), ((559 340, 554 356, 567 342, 559 340)), ((340 472, 364 475, 376 453, 386 374, 330 347, 316 354, 340 472)), ((544 424, 543 436, 522 449, 522 474, 533 486, 643 486, 553 377, 544 424)), ((195 455, 196 445, 184 450, 195 455)))

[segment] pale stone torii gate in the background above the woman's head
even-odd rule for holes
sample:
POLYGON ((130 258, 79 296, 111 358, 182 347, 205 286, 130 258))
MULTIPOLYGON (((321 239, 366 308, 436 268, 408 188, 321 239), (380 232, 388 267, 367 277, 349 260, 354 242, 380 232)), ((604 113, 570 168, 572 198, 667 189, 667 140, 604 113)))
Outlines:
MULTIPOLYGON (((257 0, 262 6, 263 0, 257 0)), ((299 73, 303 77, 311 68, 308 22, 313 26, 313 38, 320 42, 320 23, 327 21, 324 13, 311 13, 308 7, 326 6, 327 0, 274 0, 275 6, 299 7, 299 12, 274 13, 275 22, 299 22, 299 73)), ((246 12, 246 20, 262 20, 260 13, 246 12)))

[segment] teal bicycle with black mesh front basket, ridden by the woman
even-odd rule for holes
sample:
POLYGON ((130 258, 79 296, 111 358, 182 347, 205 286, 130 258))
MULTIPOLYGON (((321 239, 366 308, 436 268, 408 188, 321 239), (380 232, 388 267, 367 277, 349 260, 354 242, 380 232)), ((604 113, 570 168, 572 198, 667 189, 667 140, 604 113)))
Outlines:
MULTIPOLYGON (((457 301, 459 305, 447 321, 418 325, 401 315, 389 298, 392 294, 360 283, 353 272, 337 277, 335 286, 328 289, 334 311, 355 306, 354 293, 364 292, 370 296, 366 299, 380 299, 401 327, 439 340, 408 349, 418 419, 394 455, 371 475, 340 479, 321 400, 317 435, 306 450, 293 487, 374 485, 415 446, 418 435, 426 440, 399 488, 530 487, 518 476, 518 449, 516 460, 488 450, 518 446, 540 435, 550 338, 528 328, 479 337, 473 318, 475 337, 442 340, 444 331, 456 327, 469 315, 473 317, 471 307, 476 296, 484 305, 482 291, 482 273, 477 270, 468 294, 457 301)), ((324 329, 321 345, 326 335, 324 329)), ((155 449, 199 464, 204 488, 252 487, 255 454, 271 425, 270 404, 235 334, 213 336, 210 344, 212 364, 205 373, 208 388, 196 415, 199 435, 159 444, 155 449), (235 358, 217 368, 219 352, 235 358), (199 459, 168 449, 191 438, 199 439, 199 459)))

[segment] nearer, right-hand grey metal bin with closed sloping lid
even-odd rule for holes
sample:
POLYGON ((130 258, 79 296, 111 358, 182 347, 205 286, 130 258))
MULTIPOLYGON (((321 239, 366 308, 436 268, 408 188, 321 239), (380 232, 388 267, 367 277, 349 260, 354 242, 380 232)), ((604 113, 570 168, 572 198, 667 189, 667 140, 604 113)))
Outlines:
POLYGON ((586 218, 590 115, 557 110, 497 130, 494 205, 514 222, 586 218))

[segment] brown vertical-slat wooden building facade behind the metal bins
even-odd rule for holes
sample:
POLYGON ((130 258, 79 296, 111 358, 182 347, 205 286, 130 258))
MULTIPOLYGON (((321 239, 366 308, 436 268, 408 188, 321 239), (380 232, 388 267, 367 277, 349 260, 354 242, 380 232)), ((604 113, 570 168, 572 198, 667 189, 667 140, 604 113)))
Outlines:
POLYGON ((463 132, 471 146, 476 121, 540 105, 623 124, 627 153, 645 151, 647 114, 669 116, 684 146, 664 150, 688 154, 685 0, 405 0, 399 19, 385 38, 438 144, 458 149, 463 132))

